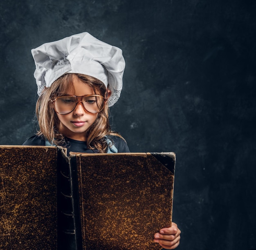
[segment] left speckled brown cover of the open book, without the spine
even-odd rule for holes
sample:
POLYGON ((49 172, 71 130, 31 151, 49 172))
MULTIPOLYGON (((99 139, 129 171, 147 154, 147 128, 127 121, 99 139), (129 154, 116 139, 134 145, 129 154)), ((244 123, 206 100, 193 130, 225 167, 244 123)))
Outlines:
POLYGON ((55 147, 0 146, 0 249, 56 249, 55 147))

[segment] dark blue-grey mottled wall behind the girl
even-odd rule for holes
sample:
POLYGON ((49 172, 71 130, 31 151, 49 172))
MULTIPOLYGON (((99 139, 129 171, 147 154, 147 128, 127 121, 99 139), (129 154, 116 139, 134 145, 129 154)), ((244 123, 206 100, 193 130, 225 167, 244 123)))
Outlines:
POLYGON ((112 128, 177 155, 180 250, 256 249, 255 0, 1 0, 0 144, 33 135, 30 50, 88 31, 126 59, 112 128))

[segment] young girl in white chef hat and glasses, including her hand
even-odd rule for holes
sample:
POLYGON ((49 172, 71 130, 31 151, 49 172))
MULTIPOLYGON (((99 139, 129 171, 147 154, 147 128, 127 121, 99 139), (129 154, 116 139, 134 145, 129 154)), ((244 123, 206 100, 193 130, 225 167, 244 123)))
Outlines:
MULTIPOLYGON (((32 49, 38 86, 39 131, 23 145, 56 145, 67 153, 128 153, 110 129, 108 109, 117 102, 125 61, 121 49, 80 33, 32 49)), ((154 235, 166 249, 180 243, 175 223, 154 235)))

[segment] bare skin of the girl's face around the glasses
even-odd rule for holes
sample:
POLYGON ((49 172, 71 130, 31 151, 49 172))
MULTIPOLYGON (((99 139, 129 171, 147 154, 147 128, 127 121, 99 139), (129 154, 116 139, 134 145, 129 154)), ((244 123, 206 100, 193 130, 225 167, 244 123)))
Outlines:
MULTIPOLYGON (((73 77, 74 93, 68 95, 93 95, 94 91, 88 84, 79 80, 78 77, 73 77)), ((65 137, 78 141, 86 141, 85 134, 88 128, 95 122, 98 114, 92 114, 83 108, 81 103, 78 103, 75 109, 66 115, 56 113, 60 120, 59 132, 65 137)))

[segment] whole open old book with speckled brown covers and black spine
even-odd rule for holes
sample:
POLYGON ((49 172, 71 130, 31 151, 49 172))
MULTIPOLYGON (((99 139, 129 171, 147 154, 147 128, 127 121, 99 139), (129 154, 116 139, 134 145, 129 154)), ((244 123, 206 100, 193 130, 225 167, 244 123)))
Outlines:
POLYGON ((0 146, 0 250, 160 249, 174 153, 0 146))

